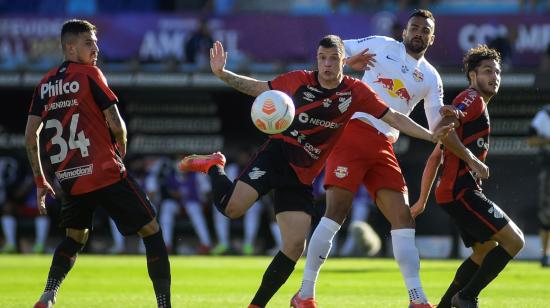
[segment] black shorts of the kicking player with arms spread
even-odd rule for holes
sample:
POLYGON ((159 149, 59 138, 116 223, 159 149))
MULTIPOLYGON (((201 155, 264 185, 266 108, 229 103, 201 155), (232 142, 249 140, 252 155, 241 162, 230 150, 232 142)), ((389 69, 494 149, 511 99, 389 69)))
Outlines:
POLYGON ((300 182, 282 151, 282 141, 268 141, 254 154, 237 180, 252 186, 259 197, 273 189, 276 214, 302 211, 313 215, 313 188, 300 182))

